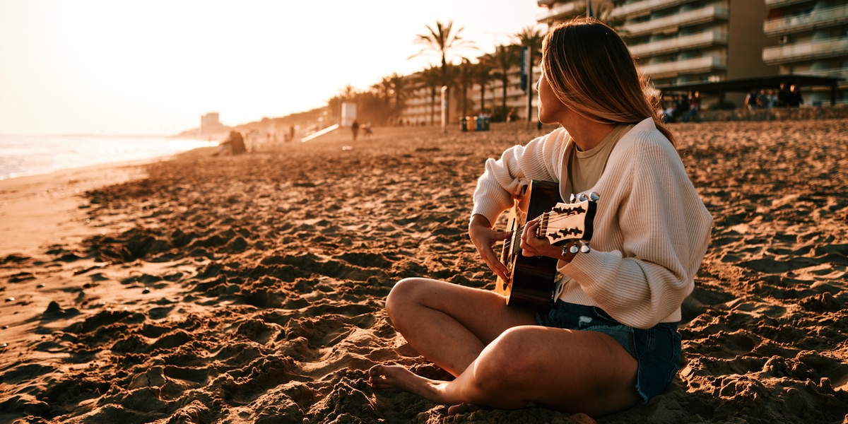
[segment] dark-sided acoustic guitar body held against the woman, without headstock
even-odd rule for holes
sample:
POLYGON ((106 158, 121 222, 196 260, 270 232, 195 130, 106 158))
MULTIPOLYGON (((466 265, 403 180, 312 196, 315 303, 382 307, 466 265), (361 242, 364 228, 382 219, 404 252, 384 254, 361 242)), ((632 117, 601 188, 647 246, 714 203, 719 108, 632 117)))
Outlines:
POLYGON ((498 278, 494 291, 506 297, 506 304, 529 310, 544 310, 554 290, 556 262, 546 256, 522 255, 521 232, 516 231, 530 220, 550 212, 561 202, 560 186, 550 181, 531 181, 521 201, 510 211, 506 230, 512 232, 504 243, 501 261, 510 269, 510 281, 498 278))

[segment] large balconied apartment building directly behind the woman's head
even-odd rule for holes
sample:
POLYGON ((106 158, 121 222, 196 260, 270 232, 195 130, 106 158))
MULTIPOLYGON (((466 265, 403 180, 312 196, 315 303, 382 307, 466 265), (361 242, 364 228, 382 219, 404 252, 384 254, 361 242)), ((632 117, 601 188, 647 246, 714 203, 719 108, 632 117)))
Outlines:
MULTIPOLYGON (((587 4, 538 0, 550 11, 549 25, 585 14, 587 4)), ((778 73, 778 66, 761 59, 763 49, 777 42, 762 31, 765 0, 594 0, 592 6, 595 17, 619 31, 655 86, 778 73)), ((741 104, 743 96, 728 99, 741 104)))

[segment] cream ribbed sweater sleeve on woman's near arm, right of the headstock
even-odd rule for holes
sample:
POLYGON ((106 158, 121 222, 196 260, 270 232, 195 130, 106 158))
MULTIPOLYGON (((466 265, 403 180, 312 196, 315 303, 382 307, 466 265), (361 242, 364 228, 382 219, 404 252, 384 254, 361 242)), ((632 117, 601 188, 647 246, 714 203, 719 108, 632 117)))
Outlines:
POLYGON ((671 142, 656 128, 634 130, 596 185, 599 240, 560 271, 617 321, 648 328, 680 319, 712 218, 671 142))

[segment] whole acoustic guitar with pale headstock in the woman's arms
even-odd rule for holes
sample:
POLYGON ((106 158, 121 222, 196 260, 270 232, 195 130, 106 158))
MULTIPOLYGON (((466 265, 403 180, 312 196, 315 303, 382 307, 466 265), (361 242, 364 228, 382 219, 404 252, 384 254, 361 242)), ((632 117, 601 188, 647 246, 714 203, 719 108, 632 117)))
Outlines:
POLYGON ((510 280, 498 277, 494 287, 496 293, 506 297, 506 304, 534 311, 544 310, 553 296, 557 260, 547 256, 522 255, 522 233, 528 218, 541 217, 537 237, 547 237, 556 246, 580 240, 582 247, 572 247, 572 252, 588 252, 597 200, 598 195, 592 193, 580 198, 572 196, 571 203, 564 203, 559 185, 550 181, 531 181, 525 187, 522 198, 516 200, 510 210, 506 228, 512 236, 504 241, 500 258, 510 269, 510 280))

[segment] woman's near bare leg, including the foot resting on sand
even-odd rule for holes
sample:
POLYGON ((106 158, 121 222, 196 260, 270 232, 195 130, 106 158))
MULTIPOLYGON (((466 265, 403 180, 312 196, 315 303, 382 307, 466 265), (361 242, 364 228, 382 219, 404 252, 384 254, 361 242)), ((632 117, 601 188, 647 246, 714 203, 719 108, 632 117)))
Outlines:
POLYGON ((370 371, 375 388, 398 388, 439 404, 516 409, 530 402, 605 416, 639 402, 637 363, 600 332, 519 326, 489 343, 452 382, 416 376, 399 366, 370 371))

